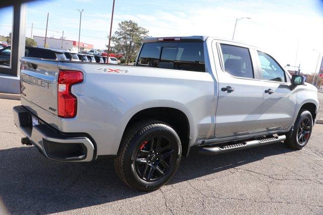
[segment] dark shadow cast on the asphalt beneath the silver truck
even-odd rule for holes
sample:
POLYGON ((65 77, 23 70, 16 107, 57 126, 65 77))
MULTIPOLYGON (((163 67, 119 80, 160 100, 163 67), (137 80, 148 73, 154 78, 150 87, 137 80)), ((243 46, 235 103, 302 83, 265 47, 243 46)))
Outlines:
MULTIPOLYGON (((280 143, 217 156, 203 156, 193 148, 169 184, 288 152, 280 143)), ((0 205, 9 213, 55 213, 146 194, 120 181, 112 159, 60 163, 45 159, 34 147, 21 147, 0 150, 0 162, 0 205)))

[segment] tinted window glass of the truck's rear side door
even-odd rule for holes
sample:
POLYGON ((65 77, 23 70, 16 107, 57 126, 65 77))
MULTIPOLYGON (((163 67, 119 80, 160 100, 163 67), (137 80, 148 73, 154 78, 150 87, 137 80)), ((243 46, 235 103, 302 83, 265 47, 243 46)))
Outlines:
POLYGON ((253 79, 253 68, 248 48, 221 44, 224 70, 232 76, 253 79))

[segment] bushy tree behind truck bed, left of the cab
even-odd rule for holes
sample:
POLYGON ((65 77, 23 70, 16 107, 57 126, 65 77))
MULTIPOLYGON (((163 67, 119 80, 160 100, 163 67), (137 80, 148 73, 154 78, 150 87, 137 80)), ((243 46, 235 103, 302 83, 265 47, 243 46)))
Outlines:
POLYGON ((119 28, 112 36, 111 41, 114 44, 115 51, 123 54, 125 64, 128 65, 129 61, 136 57, 142 41, 148 37, 149 31, 131 20, 123 21, 118 25, 119 28))

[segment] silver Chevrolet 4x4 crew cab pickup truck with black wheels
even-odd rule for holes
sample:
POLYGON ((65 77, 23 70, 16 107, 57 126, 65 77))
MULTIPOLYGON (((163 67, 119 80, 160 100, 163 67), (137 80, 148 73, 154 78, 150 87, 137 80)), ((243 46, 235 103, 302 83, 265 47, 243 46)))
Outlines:
POLYGON ((148 38, 135 66, 21 59, 22 144, 46 158, 115 158, 138 190, 167 183, 191 147, 216 155, 284 141, 302 149, 317 90, 265 51, 206 36, 148 38))

